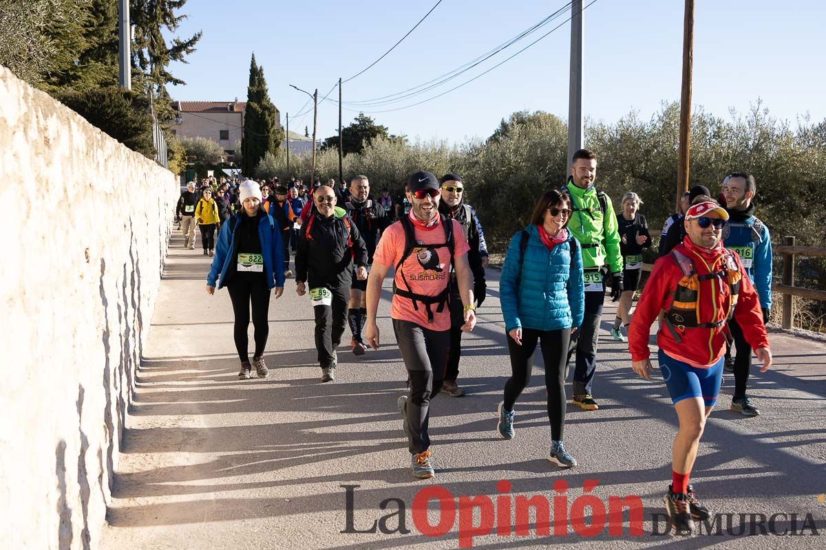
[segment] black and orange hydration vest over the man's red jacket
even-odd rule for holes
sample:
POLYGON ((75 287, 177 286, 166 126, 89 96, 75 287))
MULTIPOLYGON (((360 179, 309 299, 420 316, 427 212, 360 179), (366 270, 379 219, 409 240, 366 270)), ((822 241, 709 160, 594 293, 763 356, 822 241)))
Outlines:
POLYGON ((725 267, 721 270, 712 271, 708 275, 697 275, 694 261, 681 251, 672 250, 671 256, 674 263, 680 268, 682 277, 671 293, 672 303, 668 306, 663 319, 663 325, 671 332, 677 344, 682 342, 681 333, 685 333, 686 328, 719 328, 729 321, 734 315, 734 308, 737 306, 738 294, 740 293, 740 280, 743 274, 734 260, 733 254, 726 250, 723 253, 725 267), (729 285, 729 311, 722 321, 702 322, 700 320, 700 281, 704 280, 724 280, 729 285))

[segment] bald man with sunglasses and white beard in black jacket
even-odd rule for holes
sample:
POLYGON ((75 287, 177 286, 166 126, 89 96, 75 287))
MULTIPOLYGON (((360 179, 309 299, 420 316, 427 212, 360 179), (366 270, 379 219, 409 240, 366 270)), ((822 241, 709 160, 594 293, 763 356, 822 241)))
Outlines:
POLYGON ((316 313, 316 349, 321 382, 335 380, 335 348, 346 327, 347 300, 353 282, 367 280, 367 248, 358 228, 343 209, 335 207, 335 192, 320 186, 313 194, 316 212, 301 226, 296 252, 296 292, 310 289, 316 313))

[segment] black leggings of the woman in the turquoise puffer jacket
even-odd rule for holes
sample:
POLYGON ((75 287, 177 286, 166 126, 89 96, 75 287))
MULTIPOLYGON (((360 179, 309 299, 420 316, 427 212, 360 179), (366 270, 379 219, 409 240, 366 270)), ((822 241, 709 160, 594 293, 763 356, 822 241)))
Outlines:
POLYGON ((545 362, 545 388, 548 389, 548 420, 551 422, 551 439, 563 440, 565 427, 565 363, 571 329, 536 331, 522 329, 522 345, 508 335, 508 352, 512 375, 505 383, 505 410, 513 411, 516 398, 528 385, 534 362, 536 341, 539 340, 545 362))

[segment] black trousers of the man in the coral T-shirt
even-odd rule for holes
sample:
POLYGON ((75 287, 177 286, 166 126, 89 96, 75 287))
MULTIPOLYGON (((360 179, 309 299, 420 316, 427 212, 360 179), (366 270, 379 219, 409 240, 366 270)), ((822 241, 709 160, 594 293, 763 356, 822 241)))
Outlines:
POLYGON ((408 440, 411 454, 430 449, 430 400, 439 395, 448 357, 448 331, 431 331, 415 322, 393 319, 396 343, 411 378, 407 401, 408 440))

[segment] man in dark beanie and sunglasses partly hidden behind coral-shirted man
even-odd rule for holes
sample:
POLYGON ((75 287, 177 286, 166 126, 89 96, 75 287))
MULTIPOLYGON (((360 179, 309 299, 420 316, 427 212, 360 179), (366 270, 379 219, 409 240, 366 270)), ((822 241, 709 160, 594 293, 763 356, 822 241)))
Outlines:
MULTIPOLYGON (((487 259, 487 248, 480 238, 479 228, 481 227, 476 211, 466 203, 464 199, 464 183, 462 178, 456 174, 445 174, 439 180, 441 184, 442 200, 439 201, 439 214, 443 214, 447 219, 455 219, 461 226, 468 239, 470 251, 468 251, 468 264, 473 273, 473 296, 476 298, 477 307, 485 300, 487 284, 485 284, 485 268, 483 258, 487 259)), ((464 391, 456 384, 459 374, 459 359, 462 357, 462 326, 464 324, 464 312, 462 309, 462 299, 459 296, 458 284, 456 284, 456 274, 451 273, 452 280, 450 286, 450 350, 448 353, 448 365, 444 373, 444 383, 442 383, 442 393, 450 397, 462 397, 464 391)))

